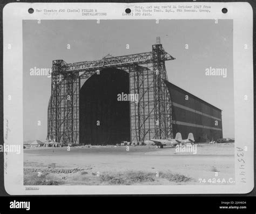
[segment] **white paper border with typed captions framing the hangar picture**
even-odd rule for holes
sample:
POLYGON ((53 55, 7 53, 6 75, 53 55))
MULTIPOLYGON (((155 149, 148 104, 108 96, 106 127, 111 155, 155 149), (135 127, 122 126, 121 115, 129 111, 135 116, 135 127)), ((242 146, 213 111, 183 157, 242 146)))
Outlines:
POLYGON ((23 150, 4 154, 4 187, 10 195, 119 195, 119 194, 245 194, 254 188, 253 119, 253 10, 249 3, 9 3, 3 9, 3 100, 4 143, 16 142, 23 148, 23 40, 22 21, 35 19, 233 19, 233 71, 235 110, 235 185, 60 185, 24 186, 23 150), (209 13, 159 13, 150 17, 124 16, 126 8, 142 5, 210 5, 209 13), (28 13, 33 8, 34 13, 28 13), (37 13, 37 9, 92 8, 107 16, 80 13, 37 13), (221 12, 226 8, 227 13, 221 12), (245 49, 247 45, 247 49, 245 49), (11 49, 10 49, 11 47, 11 49), (8 96, 11 95, 11 100, 8 96), (247 95, 247 100, 244 96, 247 95), (245 169, 241 174, 241 157, 245 169), (246 183, 239 182, 246 175, 246 183), (36 190, 26 190, 27 187, 36 190))

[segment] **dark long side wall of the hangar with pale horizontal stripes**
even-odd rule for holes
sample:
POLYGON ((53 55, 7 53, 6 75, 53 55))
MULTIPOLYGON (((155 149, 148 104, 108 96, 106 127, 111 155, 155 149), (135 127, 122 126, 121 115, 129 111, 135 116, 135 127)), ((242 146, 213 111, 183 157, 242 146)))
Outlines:
POLYGON ((172 96, 173 113, 183 139, 191 132, 196 142, 223 137, 221 109, 201 100, 184 89, 166 82, 172 96))

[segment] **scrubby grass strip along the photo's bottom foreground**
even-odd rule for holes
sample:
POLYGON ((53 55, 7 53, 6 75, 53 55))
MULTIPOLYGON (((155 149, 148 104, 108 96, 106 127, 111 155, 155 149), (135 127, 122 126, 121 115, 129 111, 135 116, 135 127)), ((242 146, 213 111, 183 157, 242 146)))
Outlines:
POLYGON ((192 180, 191 177, 172 172, 159 172, 157 177, 155 172, 144 171, 102 172, 99 177, 86 171, 68 174, 62 178, 56 176, 63 175, 53 176, 51 172, 45 172, 41 176, 37 175, 37 172, 24 171, 24 185, 135 185, 159 182, 163 179, 176 183, 192 180))

